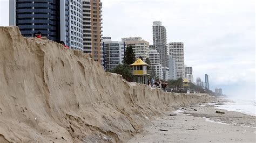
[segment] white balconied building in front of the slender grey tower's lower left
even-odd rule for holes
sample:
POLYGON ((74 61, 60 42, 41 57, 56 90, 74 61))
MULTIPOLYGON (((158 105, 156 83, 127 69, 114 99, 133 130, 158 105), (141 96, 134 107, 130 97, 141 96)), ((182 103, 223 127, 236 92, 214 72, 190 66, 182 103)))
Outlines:
POLYGON ((163 79, 163 69, 160 64, 160 56, 156 49, 150 49, 150 65, 151 69, 156 71, 156 77, 160 80, 163 79))

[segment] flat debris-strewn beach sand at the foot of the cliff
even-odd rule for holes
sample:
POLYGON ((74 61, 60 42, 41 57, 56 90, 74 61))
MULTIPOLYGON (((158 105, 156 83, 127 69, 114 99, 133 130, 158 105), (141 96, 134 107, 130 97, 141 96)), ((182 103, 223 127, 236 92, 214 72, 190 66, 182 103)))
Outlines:
POLYGON ((223 103, 192 104, 187 108, 166 112, 166 115, 153 120, 153 125, 145 127, 142 134, 135 135, 129 142, 256 141, 255 116, 215 109, 213 104, 223 103))

